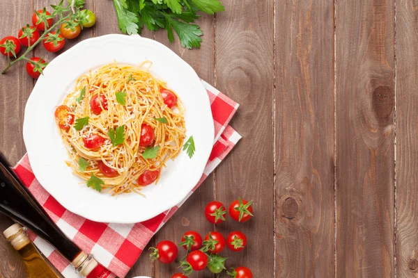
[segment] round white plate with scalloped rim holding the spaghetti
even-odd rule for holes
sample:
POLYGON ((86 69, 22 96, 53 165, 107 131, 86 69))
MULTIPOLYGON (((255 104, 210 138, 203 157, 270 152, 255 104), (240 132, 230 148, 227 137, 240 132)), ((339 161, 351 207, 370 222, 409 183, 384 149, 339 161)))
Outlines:
POLYGON ((201 178, 214 139, 210 101, 196 72, 159 42, 127 35, 104 35, 79 42, 52 60, 40 76, 26 104, 23 137, 33 173, 42 186, 73 213, 97 222, 133 223, 153 218, 181 202, 201 178), (54 111, 89 70, 109 63, 138 65, 151 60, 150 71, 173 89, 185 104, 187 138, 196 152, 181 152, 169 161, 157 185, 112 197, 87 188, 65 165, 65 150, 54 111))

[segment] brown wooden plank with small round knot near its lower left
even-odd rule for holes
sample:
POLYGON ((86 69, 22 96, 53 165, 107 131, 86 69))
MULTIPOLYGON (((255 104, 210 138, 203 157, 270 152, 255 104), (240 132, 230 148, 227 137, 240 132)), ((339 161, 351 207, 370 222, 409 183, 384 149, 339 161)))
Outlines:
POLYGON ((276 277, 334 275, 333 0, 276 6, 276 277))

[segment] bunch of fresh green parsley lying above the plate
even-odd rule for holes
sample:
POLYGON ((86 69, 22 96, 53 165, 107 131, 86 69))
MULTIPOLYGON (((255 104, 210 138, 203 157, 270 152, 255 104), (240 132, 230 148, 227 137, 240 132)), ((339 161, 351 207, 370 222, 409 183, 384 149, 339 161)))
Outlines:
POLYGON ((165 28, 170 42, 173 29, 181 45, 200 47, 203 35, 199 25, 193 24, 199 11, 213 15, 224 10, 219 0, 113 0, 118 25, 123 33, 141 33, 144 25, 150 31, 165 28))

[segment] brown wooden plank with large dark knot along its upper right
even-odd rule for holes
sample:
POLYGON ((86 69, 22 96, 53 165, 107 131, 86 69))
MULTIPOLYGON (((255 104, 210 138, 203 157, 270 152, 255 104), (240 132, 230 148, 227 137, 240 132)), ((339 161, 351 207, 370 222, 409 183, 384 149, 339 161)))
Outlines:
POLYGON ((336 2, 336 277, 394 276, 394 1, 336 2))

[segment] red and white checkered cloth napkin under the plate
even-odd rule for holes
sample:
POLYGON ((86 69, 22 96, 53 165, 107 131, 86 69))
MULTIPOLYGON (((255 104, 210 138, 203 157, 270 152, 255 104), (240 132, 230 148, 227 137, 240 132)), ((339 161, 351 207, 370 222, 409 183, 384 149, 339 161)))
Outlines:
MULTIPOLYGON (((60 227, 65 235, 74 241, 84 252, 93 254, 95 259, 110 271, 104 270, 100 277, 125 277, 137 261, 142 250, 181 204, 192 195, 206 177, 225 158, 241 136, 228 125, 238 108, 238 104, 226 97, 211 85, 202 81, 210 98, 213 121, 215 123, 215 142, 212 154, 199 183, 185 199, 173 208, 155 216, 155 218, 136 224, 99 223, 70 213, 47 193, 35 179, 29 165, 27 154, 15 166, 15 172, 29 188, 36 200, 45 208, 48 215, 60 227)), ((81 277, 75 274, 72 265, 63 259, 53 247, 33 233, 31 240, 51 261, 64 277, 81 277)), ((98 273, 92 275, 96 277, 98 273)), ((89 275, 90 277, 91 275, 89 275)))

